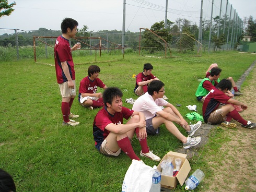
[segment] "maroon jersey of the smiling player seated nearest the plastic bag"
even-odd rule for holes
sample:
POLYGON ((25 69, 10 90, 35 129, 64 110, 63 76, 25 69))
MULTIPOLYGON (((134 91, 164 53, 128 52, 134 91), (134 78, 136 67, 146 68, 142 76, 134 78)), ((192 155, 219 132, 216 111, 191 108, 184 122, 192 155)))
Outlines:
POLYGON ((95 147, 100 150, 101 143, 104 139, 109 135, 110 131, 105 129, 105 127, 113 123, 115 125, 123 124, 123 118, 129 119, 132 114, 133 110, 130 110, 126 107, 122 107, 121 112, 115 112, 114 115, 111 115, 107 111, 107 107, 104 106, 95 116, 94 124, 93 124, 93 135, 95 140, 95 147))

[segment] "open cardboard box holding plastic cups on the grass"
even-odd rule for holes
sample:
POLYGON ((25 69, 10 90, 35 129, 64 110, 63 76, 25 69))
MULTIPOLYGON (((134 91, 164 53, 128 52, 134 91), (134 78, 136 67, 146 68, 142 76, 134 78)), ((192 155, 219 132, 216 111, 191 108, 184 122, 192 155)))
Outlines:
POLYGON ((161 162, 165 159, 168 159, 169 157, 173 157, 172 164, 175 169, 175 159, 180 158, 181 159, 181 166, 179 173, 173 177, 173 176, 167 176, 167 175, 161 175, 161 187, 168 188, 168 189, 175 189, 177 186, 177 183, 179 182, 182 186, 185 182, 185 179, 187 178, 191 167, 189 164, 189 161, 186 159, 187 154, 177 153, 177 152, 168 152, 160 161, 160 163, 157 166, 158 171, 162 172, 162 168, 160 166, 161 162))

